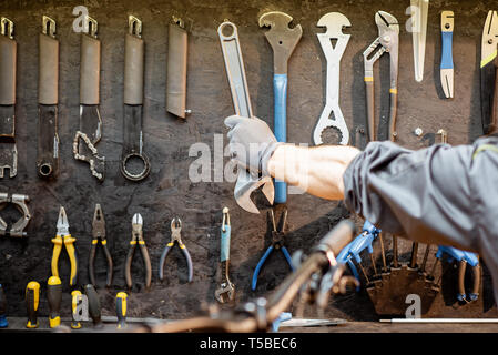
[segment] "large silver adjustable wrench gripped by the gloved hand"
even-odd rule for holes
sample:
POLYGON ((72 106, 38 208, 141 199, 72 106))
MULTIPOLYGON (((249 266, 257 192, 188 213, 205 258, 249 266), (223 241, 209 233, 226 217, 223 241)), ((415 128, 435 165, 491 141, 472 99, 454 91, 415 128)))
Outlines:
MULTIPOLYGON (((253 111, 251 109, 237 28, 232 22, 225 21, 217 28, 217 34, 222 44, 226 77, 228 78, 235 113, 244 118, 252 118, 253 111)), ((260 213, 256 205, 251 201, 251 193, 260 186, 263 186, 263 194, 273 204, 275 191, 272 179, 270 176, 258 176, 247 170, 238 169, 237 182, 235 183, 234 190, 237 204, 247 212, 260 213)))

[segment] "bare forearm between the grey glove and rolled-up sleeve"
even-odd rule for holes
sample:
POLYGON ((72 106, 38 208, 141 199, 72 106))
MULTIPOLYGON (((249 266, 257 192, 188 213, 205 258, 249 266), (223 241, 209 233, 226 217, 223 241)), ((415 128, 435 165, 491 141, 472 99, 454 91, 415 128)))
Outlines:
POLYGON ((299 186, 312 195, 343 200, 343 174, 358 153, 354 146, 283 144, 268 160, 267 170, 273 178, 299 186))

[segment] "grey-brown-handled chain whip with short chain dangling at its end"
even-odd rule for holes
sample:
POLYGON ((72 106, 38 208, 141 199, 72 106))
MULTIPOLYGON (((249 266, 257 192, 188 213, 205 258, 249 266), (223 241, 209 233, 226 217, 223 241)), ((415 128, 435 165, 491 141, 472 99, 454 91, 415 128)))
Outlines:
POLYGON ((96 143, 102 138, 102 119, 99 112, 100 41, 96 38, 98 23, 87 16, 88 33, 81 34, 80 67, 80 129, 73 140, 75 160, 90 164, 92 175, 104 180, 105 158, 99 155, 96 143))

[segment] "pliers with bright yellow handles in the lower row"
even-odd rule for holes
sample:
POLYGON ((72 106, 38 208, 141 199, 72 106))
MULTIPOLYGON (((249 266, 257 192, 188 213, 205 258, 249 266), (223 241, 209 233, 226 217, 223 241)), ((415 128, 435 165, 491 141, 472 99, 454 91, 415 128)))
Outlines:
POLYGON ((64 207, 61 206, 59 210, 59 219, 57 220, 57 235, 52 239, 52 276, 59 277, 59 255, 61 254, 62 244, 64 244, 71 263, 70 286, 74 286, 78 280, 78 258, 74 250, 75 241, 77 240, 69 233, 68 215, 65 214, 64 207))

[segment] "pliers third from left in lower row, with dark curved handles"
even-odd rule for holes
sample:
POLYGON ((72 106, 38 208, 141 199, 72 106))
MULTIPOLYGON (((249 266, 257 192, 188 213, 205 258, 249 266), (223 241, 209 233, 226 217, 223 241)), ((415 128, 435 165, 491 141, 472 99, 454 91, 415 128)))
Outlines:
POLYGON ((131 278, 131 263, 133 261, 133 255, 135 253, 136 243, 139 243, 140 251, 142 253, 143 265, 145 267, 145 287, 151 286, 152 278, 152 266, 151 257, 149 256, 148 247, 145 246, 145 241, 143 240, 143 219, 140 213, 135 213, 132 219, 132 239, 130 241, 130 248, 128 250, 126 261, 124 263, 124 278, 129 288, 132 288, 131 278))

